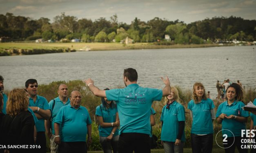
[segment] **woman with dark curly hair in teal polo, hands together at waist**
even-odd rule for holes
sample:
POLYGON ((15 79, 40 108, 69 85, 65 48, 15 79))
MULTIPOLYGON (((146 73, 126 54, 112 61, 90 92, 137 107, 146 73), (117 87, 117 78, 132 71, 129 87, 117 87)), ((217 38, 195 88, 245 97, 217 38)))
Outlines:
POLYGON ((245 104, 243 103, 243 90, 240 85, 232 83, 227 87, 226 99, 227 101, 219 105, 216 113, 217 122, 222 124, 223 142, 224 139, 226 141, 223 143, 224 148, 226 148, 225 152, 234 153, 237 147, 239 153, 247 153, 247 149, 241 148, 241 130, 246 129, 245 122, 247 122, 249 113, 242 109, 245 104))

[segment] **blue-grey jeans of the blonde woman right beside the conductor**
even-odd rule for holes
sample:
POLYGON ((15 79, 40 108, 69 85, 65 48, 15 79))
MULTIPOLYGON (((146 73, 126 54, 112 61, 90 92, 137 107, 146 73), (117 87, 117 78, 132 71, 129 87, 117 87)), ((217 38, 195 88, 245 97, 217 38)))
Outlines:
POLYGON ((180 142, 178 146, 174 143, 163 141, 165 153, 183 153, 183 142, 180 142))

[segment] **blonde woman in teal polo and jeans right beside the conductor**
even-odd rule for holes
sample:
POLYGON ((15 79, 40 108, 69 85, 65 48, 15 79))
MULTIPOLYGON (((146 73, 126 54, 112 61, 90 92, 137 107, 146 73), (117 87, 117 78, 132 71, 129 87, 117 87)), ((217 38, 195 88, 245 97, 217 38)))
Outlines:
POLYGON ((162 109, 161 143, 165 153, 183 153, 185 142, 185 109, 180 104, 178 90, 171 87, 171 93, 165 97, 162 109))

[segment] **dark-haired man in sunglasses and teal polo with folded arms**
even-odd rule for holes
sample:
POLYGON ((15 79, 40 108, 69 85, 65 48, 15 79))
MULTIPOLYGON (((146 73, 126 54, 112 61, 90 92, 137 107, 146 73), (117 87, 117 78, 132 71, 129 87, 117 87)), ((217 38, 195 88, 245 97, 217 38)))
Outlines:
POLYGON ((45 120, 51 117, 50 107, 45 97, 37 95, 38 83, 36 79, 28 79, 25 83, 29 94, 29 108, 33 110, 38 122, 36 123, 36 144, 40 145, 38 153, 46 153, 45 120))

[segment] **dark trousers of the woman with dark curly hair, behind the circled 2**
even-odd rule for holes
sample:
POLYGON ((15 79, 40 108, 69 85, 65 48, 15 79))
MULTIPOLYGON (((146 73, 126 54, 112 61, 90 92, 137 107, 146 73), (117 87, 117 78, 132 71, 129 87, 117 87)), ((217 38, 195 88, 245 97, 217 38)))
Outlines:
POLYGON ((234 153, 236 147, 237 147, 239 153, 247 153, 248 149, 242 149, 241 148, 241 145, 245 145, 245 143, 243 143, 243 144, 241 143, 241 139, 242 139, 242 137, 240 137, 240 136, 235 137, 235 142, 234 142, 234 137, 227 137, 227 139, 226 139, 227 143, 223 144, 223 146, 224 146, 224 148, 227 148, 229 146, 230 147, 225 149, 225 153, 234 153), (233 144, 233 142, 234 142, 234 144, 233 144))

